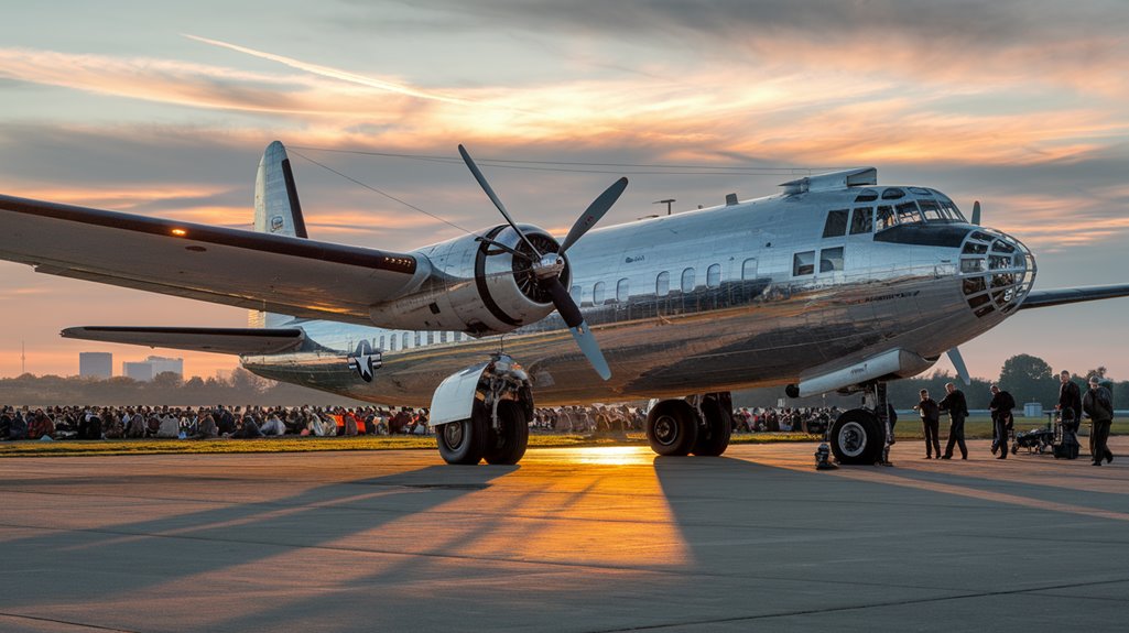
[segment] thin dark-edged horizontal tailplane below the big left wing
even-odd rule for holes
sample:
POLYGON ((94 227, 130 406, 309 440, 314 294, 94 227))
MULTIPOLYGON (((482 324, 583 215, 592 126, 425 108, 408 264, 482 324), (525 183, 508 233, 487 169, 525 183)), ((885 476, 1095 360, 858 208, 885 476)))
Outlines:
POLYGON ((274 354, 301 346, 306 334, 297 327, 68 327, 63 339, 125 343, 217 354, 274 354))

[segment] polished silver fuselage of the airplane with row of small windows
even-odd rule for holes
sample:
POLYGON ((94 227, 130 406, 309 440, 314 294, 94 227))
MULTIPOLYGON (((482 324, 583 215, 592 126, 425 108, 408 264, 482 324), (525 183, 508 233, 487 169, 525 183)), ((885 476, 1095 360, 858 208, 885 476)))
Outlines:
MULTIPOLYGON (((508 227, 483 235, 518 246, 508 227)), ((969 225, 935 190, 876 186, 874 170, 804 178, 780 195, 594 229, 569 250, 566 282, 611 366, 612 378, 603 381, 558 315, 535 320, 551 310, 548 300, 514 293, 524 273, 510 255, 460 239, 461 249, 439 245, 452 260, 431 262, 441 281, 425 283, 401 306, 415 316, 434 314, 430 305, 439 301, 446 301, 436 306, 440 315, 448 307, 465 310, 473 302, 444 297, 480 287, 473 260, 492 253, 479 269, 489 271, 485 283, 508 293, 505 314, 525 310, 511 333, 487 335, 497 328, 485 327, 472 339, 272 317, 273 325, 301 327, 309 343, 295 353, 242 357, 244 367, 417 406, 426 406, 447 376, 499 350, 524 366, 539 405, 788 385, 891 350, 917 359, 893 378, 928 368, 1014 314, 1035 274, 1034 258, 1015 238, 969 225), (349 364, 362 340, 382 357, 370 381, 349 364)), ((493 317, 480 319, 488 326, 500 323, 489 308, 474 309, 493 317)))

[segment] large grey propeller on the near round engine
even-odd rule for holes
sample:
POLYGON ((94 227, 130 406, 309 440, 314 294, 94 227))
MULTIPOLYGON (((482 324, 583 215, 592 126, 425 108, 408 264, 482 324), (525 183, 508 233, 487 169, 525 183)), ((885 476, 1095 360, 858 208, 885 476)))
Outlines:
POLYGON ((612 183, 612 186, 607 187, 604 193, 599 194, 596 200, 588 205, 588 209, 577 218, 572 228, 568 231, 568 237, 561 244, 560 252, 558 253, 541 253, 536 246, 530 241, 530 238, 517 227, 514 219, 510 218, 509 212, 506 211, 506 206, 501 203, 501 200, 495 193, 493 187, 487 182, 487 177, 482 175, 482 170, 479 166, 474 164, 474 159, 471 158, 470 152, 466 151, 462 144, 458 146, 458 153, 463 157, 463 161, 466 162, 466 167, 470 168, 471 174, 474 175, 474 179, 479 182, 482 191, 487 193, 490 201, 495 203, 498 211, 501 212, 509 226, 513 227, 514 231, 522 238, 530 250, 533 253, 532 256, 524 253, 519 253, 509 247, 504 247, 502 245, 493 241, 480 238, 483 241, 489 241, 493 246, 498 246, 502 250, 509 252, 514 255, 518 255, 528 260, 533 266, 534 275, 536 276, 537 285, 549 293, 552 298, 553 307, 564 319, 564 325, 568 326, 569 332, 572 334, 572 339, 576 341, 577 346, 584 353, 585 358, 592 364, 593 369, 601 378, 607 380, 612 377, 612 370, 607 367, 607 360, 604 359, 604 353, 599 350, 599 344, 596 342, 596 337, 592 335, 592 331, 588 328, 588 324, 585 323, 584 316, 580 314, 580 308, 577 307, 576 301, 564 289, 564 284, 561 283, 560 275, 564 271, 564 252, 569 249, 578 239, 584 237, 584 234, 588 232, 588 229, 594 227, 601 218, 607 213, 607 210, 615 204, 619 200, 620 194, 628 186, 627 178, 620 178, 612 183))

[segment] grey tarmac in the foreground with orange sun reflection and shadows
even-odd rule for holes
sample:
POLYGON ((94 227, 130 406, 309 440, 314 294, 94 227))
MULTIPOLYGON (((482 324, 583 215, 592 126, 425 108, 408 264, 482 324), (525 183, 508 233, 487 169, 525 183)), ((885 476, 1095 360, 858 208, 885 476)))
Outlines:
POLYGON ((1124 631, 1124 455, 0 459, 0 631, 1124 631))

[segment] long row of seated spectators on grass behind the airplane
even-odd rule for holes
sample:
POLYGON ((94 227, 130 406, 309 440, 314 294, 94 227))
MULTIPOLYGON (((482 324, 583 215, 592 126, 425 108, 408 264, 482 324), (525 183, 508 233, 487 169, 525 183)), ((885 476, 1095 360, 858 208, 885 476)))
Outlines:
MULTIPOLYGON (((822 434, 839 412, 831 408, 737 408, 735 432, 803 431, 822 434)), ((645 407, 595 404, 542 407, 531 430, 623 434, 642 431, 645 407)), ((0 407, 0 440, 211 439, 281 436, 427 436, 428 410, 411 407, 262 407, 224 405, 0 407)))

